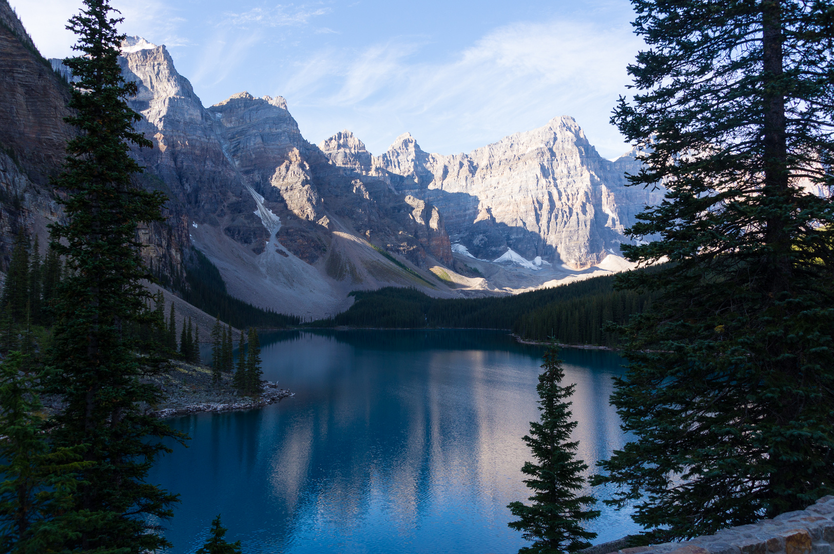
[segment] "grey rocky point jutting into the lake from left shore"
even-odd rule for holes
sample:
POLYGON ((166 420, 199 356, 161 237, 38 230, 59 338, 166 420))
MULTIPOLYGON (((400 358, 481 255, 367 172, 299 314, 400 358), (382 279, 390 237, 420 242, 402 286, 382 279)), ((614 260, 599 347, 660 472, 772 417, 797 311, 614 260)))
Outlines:
POLYGON ((148 407, 156 417, 175 417, 198 412, 249 410, 293 397, 276 382, 264 381, 259 397, 242 397, 232 387, 232 375, 224 373, 218 384, 212 383, 211 368, 184 362, 171 362, 171 370, 148 379, 163 392, 158 405, 148 407))

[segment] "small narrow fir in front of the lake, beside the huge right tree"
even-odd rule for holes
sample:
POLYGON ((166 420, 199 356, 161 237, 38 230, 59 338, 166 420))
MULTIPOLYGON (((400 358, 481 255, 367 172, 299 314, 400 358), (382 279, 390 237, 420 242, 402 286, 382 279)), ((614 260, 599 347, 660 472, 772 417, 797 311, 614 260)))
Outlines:
POLYGON ((600 516, 597 510, 589 510, 596 502, 594 497, 579 496, 585 486, 582 472, 588 466, 575 460, 578 441, 570 440, 570 433, 577 422, 570 421, 570 402, 576 385, 562 387, 565 377, 559 348, 550 346, 545 352, 544 372, 539 375, 535 390, 539 393, 540 422, 530 422, 530 435, 524 442, 530 447, 536 462, 526 462, 521 472, 529 475, 527 487, 534 491, 530 506, 513 502, 508 507, 513 516, 520 518, 508 525, 523 532, 523 537, 533 541, 530 547, 519 552, 528 554, 563 554, 590 547, 595 532, 588 532, 582 522, 600 516))

